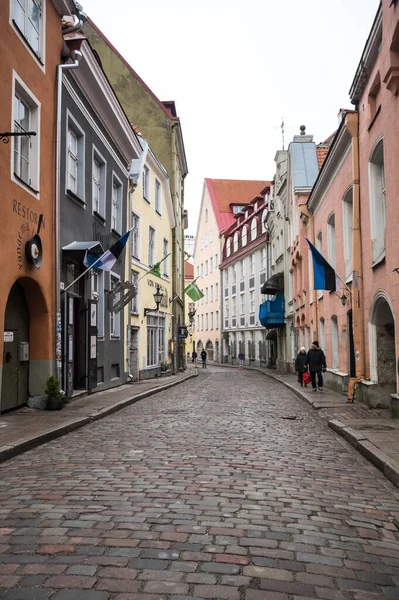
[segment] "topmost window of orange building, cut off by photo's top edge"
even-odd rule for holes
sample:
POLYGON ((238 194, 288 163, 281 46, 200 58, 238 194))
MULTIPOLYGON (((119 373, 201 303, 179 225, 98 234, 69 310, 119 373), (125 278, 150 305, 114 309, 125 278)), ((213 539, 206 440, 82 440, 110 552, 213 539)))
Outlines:
MULTIPOLYGON (((11 18, 18 32, 37 57, 43 58, 44 19, 41 0, 12 0, 11 18)), ((40 61, 41 62, 41 61, 40 61)))

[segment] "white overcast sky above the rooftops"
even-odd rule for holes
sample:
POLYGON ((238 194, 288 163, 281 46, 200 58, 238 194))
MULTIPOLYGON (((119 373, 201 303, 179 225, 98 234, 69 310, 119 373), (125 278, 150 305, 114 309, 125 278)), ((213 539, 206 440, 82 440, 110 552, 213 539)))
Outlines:
POLYGON ((195 233, 204 177, 268 180, 299 126, 337 127, 378 0, 79 0, 160 100, 175 100, 195 233))

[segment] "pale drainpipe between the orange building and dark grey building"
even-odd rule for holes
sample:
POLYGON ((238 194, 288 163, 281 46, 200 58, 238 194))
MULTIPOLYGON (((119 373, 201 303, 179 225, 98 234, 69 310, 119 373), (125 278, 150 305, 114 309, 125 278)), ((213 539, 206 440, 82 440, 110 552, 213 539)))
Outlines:
MULTIPOLYGON (((69 29, 78 31, 83 26, 83 21, 79 21, 78 25, 69 29)), ((56 359, 56 377, 61 379, 62 369, 62 344, 61 344, 61 256, 60 256, 60 175, 61 175, 61 106, 62 106, 62 74, 64 70, 77 69, 79 67, 82 53, 75 50, 73 54, 75 62, 58 65, 57 69, 57 131, 56 131, 56 174, 55 174, 55 359, 56 359)))

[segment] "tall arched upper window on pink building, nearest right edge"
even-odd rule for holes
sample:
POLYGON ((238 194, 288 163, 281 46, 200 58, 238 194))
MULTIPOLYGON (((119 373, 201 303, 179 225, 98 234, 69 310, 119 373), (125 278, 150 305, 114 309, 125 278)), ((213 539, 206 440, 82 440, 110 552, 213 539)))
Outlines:
POLYGON ((385 256, 386 215, 383 140, 378 142, 370 157, 369 194, 373 263, 378 263, 385 256))

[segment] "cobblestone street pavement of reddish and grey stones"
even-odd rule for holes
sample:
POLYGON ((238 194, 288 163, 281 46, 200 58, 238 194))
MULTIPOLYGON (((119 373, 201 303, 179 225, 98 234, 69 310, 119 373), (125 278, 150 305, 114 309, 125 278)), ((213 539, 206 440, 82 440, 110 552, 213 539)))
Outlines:
POLYGON ((198 378, 0 467, 0 598, 399 598, 399 493, 279 382, 198 378))

